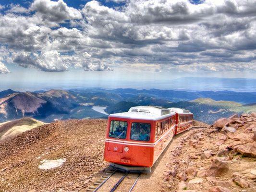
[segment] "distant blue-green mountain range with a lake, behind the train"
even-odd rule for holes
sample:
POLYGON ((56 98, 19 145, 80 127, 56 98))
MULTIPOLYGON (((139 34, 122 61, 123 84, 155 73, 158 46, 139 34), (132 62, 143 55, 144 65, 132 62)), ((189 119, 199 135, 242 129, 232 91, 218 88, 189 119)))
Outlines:
POLYGON ((195 120, 212 123, 219 117, 256 111, 256 92, 174 91, 159 89, 71 89, 0 92, 0 122, 25 116, 44 122, 107 118, 137 105, 186 108, 195 120), (104 111, 105 110, 105 111, 104 111))

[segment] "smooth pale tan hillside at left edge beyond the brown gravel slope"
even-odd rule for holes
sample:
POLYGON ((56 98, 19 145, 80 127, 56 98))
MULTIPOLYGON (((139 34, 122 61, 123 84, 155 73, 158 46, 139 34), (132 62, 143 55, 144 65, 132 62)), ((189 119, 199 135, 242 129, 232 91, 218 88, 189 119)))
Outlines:
POLYGON ((28 117, 0 123, 0 142, 44 124, 42 121, 28 117))

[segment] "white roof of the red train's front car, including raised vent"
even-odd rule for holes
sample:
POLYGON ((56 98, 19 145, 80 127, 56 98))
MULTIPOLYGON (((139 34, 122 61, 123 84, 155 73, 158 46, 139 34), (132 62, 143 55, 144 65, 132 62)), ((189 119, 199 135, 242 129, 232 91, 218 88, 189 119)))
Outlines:
POLYGON ((168 108, 153 106, 137 106, 129 109, 128 112, 110 114, 109 117, 139 119, 139 120, 160 120, 175 115, 168 108))

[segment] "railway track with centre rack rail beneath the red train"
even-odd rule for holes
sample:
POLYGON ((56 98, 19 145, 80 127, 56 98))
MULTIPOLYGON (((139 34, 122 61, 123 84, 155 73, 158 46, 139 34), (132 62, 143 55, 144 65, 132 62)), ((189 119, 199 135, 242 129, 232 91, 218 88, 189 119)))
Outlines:
MULTIPOLYGON (((207 127, 202 127, 202 126, 194 126, 194 127, 191 127, 190 129, 186 130, 185 132, 188 132, 190 130, 195 130, 195 129, 205 129, 207 127)), ((173 138, 173 140, 176 139, 176 138, 173 138)), ((172 141, 173 141, 172 140, 172 141)), ((170 142, 171 143, 171 142, 170 142)), ((163 153, 164 154, 164 153, 163 153)), ((162 155, 163 155, 162 154, 162 155)), ((141 173, 128 173, 128 172, 120 172, 118 171, 117 169, 110 169, 108 168, 104 175, 102 175, 98 180, 96 180, 93 185, 89 186, 86 190, 86 192, 114 192, 115 190, 121 188, 122 186, 121 183, 123 182, 123 180, 125 180, 125 178, 127 177, 133 177, 134 178, 134 182, 132 182, 132 185, 131 185, 131 182, 128 181, 127 183, 129 183, 129 186, 126 187, 126 189, 123 189, 122 188, 122 192, 132 192, 133 189, 134 189, 134 186, 136 185, 139 177, 140 177, 141 173), (108 182, 110 180, 110 178, 113 178, 113 176, 115 176, 116 174, 119 174, 115 177, 114 179, 114 184, 109 187, 109 190, 102 190, 102 186, 108 182), (135 176, 136 175, 136 176, 135 176), (134 177, 135 176, 135 177, 134 177), (111 188, 111 189, 110 189, 111 188)), ((120 190, 119 190, 120 191, 120 190)))

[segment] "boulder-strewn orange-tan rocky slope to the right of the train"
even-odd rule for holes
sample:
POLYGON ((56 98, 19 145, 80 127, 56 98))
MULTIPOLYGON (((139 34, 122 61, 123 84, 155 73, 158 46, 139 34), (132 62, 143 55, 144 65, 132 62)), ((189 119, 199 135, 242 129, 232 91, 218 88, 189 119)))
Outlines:
POLYGON ((256 113, 219 119, 170 150, 163 192, 256 192, 256 113))

